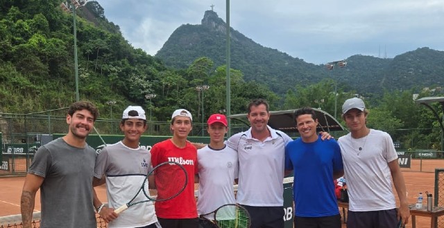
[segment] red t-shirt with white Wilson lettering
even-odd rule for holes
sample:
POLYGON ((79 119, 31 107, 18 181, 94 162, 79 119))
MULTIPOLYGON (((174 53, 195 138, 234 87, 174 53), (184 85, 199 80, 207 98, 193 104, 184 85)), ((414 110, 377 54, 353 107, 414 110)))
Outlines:
POLYGON ((171 200, 155 202, 155 213, 160 218, 197 218, 194 198, 194 175, 198 173, 197 149, 187 142, 185 148, 178 148, 171 140, 159 142, 151 148, 153 167, 162 162, 178 162, 187 171, 188 182, 184 191, 171 200))

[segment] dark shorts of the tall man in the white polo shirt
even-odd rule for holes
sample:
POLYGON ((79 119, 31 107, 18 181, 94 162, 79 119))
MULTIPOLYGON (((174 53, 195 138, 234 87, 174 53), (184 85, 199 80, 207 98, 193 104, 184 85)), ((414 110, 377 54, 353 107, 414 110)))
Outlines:
POLYGON ((253 207, 241 205, 251 216, 250 228, 282 228, 284 227, 284 207, 253 207))

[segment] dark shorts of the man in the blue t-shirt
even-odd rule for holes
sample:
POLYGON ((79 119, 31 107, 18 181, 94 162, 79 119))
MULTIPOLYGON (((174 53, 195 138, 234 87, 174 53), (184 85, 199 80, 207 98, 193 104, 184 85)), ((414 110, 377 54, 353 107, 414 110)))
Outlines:
POLYGON ((341 228, 341 215, 323 217, 300 217, 295 216, 294 227, 321 227, 321 228, 341 228))

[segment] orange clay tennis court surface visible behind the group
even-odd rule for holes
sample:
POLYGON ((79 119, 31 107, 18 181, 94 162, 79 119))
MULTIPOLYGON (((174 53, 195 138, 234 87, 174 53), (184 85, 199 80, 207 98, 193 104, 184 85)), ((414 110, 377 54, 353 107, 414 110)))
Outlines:
MULTIPOLYGON (((423 194, 425 191, 434 193, 434 170, 438 168, 444 168, 444 160, 422 160, 422 164, 420 160, 412 160, 410 169, 402 168, 406 181, 409 203, 413 204, 416 202, 419 192, 422 192, 423 194), (420 168, 422 168, 422 172, 419 171, 420 168)), ((24 177, 0 178, 0 183, 0 216, 19 214, 20 196, 22 194, 24 177)), ((106 202, 105 186, 96 187, 96 191, 99 198, 103 202, 106 202)), ((442 191, 444 191, 444 189, 442 189, 442 191)), ((444 192, 441 194, 444 194, 444 192)), ((37 192, 36 198, 35 210, 39 211, 40 191, 37 192)), ((424 203, 427 203, 426 200, 424 203)), ((429 218, 416 217, 417 227, 429 227, 429 224, 429 218)), ((345 227, 345 225, 343 225, 343 227, 345 227)), ((411 227, 411 225, 409 224, 406 227, 411 227)))

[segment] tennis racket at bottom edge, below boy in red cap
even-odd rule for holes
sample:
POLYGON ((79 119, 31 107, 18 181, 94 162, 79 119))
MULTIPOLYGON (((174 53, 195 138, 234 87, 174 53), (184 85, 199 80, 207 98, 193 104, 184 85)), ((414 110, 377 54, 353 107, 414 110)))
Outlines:
POLYGON ((251 225, 250 213, 237 204, 222 205, 210 213, 200 215, 200 219, 211 221, 219 228, 250 228, 251 225), (208 219, 211 214, 214 220, 208 219))

